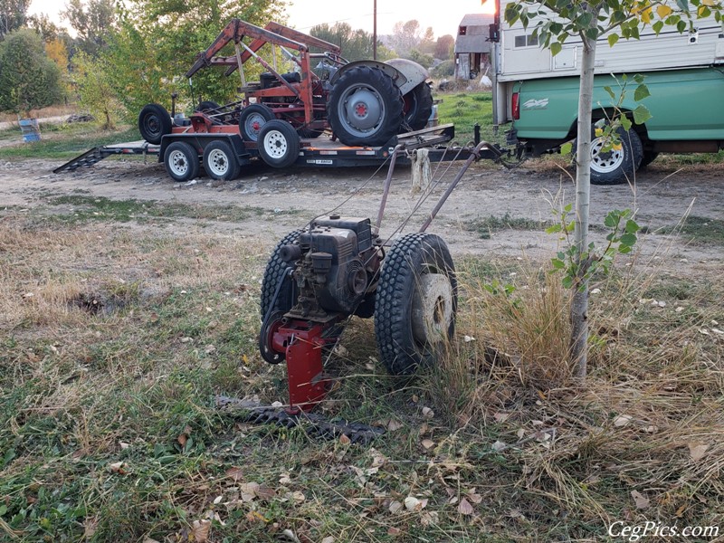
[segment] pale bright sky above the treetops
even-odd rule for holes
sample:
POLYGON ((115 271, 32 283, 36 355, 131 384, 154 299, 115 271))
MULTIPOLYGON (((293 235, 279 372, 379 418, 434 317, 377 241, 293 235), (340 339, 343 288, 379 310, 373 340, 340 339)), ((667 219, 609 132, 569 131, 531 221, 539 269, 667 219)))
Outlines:
MULTIPOLYGON (((491 13, 492 0, 377 0, 377 33, 392 33, 398 21, 417 19, 424 31, 433 27, 435 37, 457 33, 464 14, 491 13)), ((60 23, 58 13, 65 8, 64 0, 33 0, 29 14, 48 14, 60 23)), ((289 24, 307 32, 315 24, 348 23, 353 29, 372 33, 374 0, 288 0, 289 24)))

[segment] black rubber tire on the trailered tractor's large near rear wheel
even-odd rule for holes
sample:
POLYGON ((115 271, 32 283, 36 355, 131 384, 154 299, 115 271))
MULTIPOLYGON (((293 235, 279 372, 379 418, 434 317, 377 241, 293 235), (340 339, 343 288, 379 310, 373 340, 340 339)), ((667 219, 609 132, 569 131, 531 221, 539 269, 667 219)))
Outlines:
POLYGON ((395 137, 403 123, 403 107, 400 90, 395 86, 392 78, 384 71, 370 66, 357 66, 343 73, 334 84, 329 94, 327 105, 327 119, 329 126, 339 141, 349 146, 376 146, 385 145, 391 138, 395 137), (375 90, 377 96, 382 100, 385 115, 376 128, 367 133, 361 130, 354 131, 350 128, 349 121, 339 115, 340 101, 344 99, 346 91, 350 87, 359 86, 375 90))

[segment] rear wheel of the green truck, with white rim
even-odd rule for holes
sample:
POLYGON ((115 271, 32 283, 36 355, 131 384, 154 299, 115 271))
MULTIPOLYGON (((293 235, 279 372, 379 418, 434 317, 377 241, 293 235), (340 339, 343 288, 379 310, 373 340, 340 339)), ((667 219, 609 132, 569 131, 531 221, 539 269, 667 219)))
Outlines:
POLYGON ((616 129, 621 148, 603 152, 605 138, 591 136, 591 183, 594 185, 619 185, 633 177, 643 158, 641 138, 633 129, 616 129))

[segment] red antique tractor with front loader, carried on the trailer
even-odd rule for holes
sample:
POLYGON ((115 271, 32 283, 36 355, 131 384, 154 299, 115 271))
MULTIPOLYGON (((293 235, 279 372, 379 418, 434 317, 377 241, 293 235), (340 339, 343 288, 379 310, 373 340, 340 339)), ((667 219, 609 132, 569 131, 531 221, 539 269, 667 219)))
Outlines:
MULTIPOLYGON (((389 143, 399 133, 423 129, 433 108, 427 72, 419 64, 405 59, 347 62, 338 46, 277 23, 261 28, 233 19, 198 55, 186 77, 206 66, 224 66, 226 75, 238 70, 243 100, 224 106, 203 101, 190 123, 186 119, 180 126, 175 126, 161 106, 149 104, 138 119, 141 135, 148 142, 161 143, 169 133, 236 132, 247 148, 254 149, 262 141, 264 125, 281 119, 300 138, 316 138, 331 129, 333 137, 345 145, 374 147, 389 143), (249 43, 244 43, 245 38, 249 43), (229 44, 233 44, 233 54, 220 56, 229 44), (271 62, 259 54, 265 45, 264 51, 272 54, 271 62), (311 48, 321 52, 310 52, 311 48), (278 52, 295 64, 294 71, 277 70, 278 52), (250 59, 265 70, 259 81, 246 81, 243 68, 250 59), (312 61, 318 62, 315 69, 319 73, 312 70, 312 61)), ((270 141, 259 146, 267 162, 267 158, 274 159, 275 148, 294 147, 287 141, 289 130, 273 126, 270 141)), ((293 162, 286 153, 280 159, 293 162)))

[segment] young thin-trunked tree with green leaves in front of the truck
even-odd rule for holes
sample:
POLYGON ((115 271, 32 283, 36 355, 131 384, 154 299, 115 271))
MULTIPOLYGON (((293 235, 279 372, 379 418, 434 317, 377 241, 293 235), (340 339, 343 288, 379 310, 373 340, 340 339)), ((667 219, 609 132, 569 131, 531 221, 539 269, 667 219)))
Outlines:
MULTIPOLYGON (((715 14, 721 21, 719 0, 516 0, 506 5, 508 24, 520 21, 534 25, 539 43, 555 55, 569 37, 582 43, 580 91, 578 100, 576 147, 576 206, 573 241, 570 319, 572 325, 570 357, 575 374, 586 377, 588 340, 588 278, 593 262, 593 247, 588 243, 588 217, 591 181, 591 110, 593 106, 595 50, 599 41, 613 47, 621 38, 639 39, 640 28, 651 25, 654 33, 665 26, 680 33, 696 18, 715 14)), ((643 92, 643 90, 642 90, 643 92)), ((643 122, 646 112, 640 110, 643 122)), ((632 119, 622 116, 621 124, 630 128, 632 119)), ((615 138, 609 128, 609 134, 615 138)))

